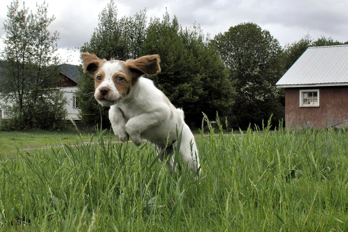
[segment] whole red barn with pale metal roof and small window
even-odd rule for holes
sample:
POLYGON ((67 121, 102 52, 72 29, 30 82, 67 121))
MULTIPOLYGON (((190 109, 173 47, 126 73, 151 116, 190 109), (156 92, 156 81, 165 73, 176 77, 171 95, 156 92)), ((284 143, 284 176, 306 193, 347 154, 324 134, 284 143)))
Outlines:
POLYGON ((348 126, 348 45, 309 47, 276 83, 285 127, 348 126))

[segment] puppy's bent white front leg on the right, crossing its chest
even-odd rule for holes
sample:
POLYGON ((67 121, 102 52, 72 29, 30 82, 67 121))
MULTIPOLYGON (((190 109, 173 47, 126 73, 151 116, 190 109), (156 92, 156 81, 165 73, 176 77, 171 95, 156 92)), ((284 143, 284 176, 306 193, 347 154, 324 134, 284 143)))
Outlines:
POLYGON ((150 127, 158 124, 163 118, 163 112, 142 113, 133 118, 130 118, 126 123, 126 132, 136 146, 141 144, 141 133, 150 127))

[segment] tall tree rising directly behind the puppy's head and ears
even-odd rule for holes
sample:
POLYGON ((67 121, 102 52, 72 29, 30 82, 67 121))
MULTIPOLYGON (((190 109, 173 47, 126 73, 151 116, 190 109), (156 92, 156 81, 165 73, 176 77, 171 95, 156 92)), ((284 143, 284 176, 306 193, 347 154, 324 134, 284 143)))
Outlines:
MULTIPOLYGON (((140 56, 140 48, 146 37, 146 10, 133 17, 117 16, 117 7, 113 0, 99 14, 98 27, 89 42, 81 47, 81 52, 94 53, 101 59, 135 59, 140 56)), ((81 120, 87 125, 102 123, 109 127, 108 107, 102 107, 93 98, 94 81, 88 74, 82 74, 79 91, 81 120)))

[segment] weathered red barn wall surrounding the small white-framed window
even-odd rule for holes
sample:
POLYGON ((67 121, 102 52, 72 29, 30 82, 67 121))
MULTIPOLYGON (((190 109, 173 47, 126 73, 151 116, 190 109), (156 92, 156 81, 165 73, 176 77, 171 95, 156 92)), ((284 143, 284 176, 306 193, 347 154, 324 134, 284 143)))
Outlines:
MULTIPOLYGON (((327 128, 348 120, 348 86, 285 88, 285 127, 327 128), (319 89, 319 107, 299 107, 300 89, 319 89)), ((348 126, 347 122, 336 127, 348 126)))

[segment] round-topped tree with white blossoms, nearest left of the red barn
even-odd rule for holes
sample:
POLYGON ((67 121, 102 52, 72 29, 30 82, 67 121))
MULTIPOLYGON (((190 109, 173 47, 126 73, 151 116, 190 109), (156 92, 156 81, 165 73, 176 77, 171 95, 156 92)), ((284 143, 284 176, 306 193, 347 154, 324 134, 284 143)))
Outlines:
POLYGON ((273 114, 273 124, 284 115, 281 94, 275 87, 284 73, 282 48, 267 30, 254 23, 230 27, 214 37, 214 45, 236 81, 232 125, 260 125, 273 114))

